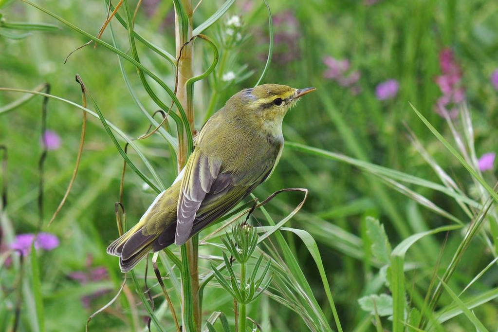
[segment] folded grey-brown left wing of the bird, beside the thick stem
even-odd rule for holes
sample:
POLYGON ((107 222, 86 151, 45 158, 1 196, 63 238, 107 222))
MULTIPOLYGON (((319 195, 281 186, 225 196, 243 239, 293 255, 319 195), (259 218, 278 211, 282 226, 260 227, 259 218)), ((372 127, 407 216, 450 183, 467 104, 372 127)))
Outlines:
POLYGON ((190 237, 197 210, 218 177, 221 162, 213 159, 195 149, 185 165, 177 206, 177 245, 185 243, 190 237))

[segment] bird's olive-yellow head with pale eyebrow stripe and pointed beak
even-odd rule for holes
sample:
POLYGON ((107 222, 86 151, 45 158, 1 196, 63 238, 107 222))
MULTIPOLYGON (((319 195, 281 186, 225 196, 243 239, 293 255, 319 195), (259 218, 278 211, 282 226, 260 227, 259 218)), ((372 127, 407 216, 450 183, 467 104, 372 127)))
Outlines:
POLYGON ((254 124, 273 131, 273 127, 281 126, 285 113, 294 107, 302 96, 315 90, 263 84, 237 93, 228 101, 227 106, 235 111, 237 117, 255 120, 254 124))

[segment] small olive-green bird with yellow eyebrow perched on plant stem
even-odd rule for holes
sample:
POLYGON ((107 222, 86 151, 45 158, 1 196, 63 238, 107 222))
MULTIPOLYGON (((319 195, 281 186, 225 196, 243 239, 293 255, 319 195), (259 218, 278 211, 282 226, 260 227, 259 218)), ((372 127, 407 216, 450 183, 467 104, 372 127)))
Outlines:
POLYGON ((232 96, 204 124, 171 187, 107 248, 120 257, 121 271, 131 270, 150 250, 185 243, 265 181, 282 153, 285 113, 315 90, 264 84, 232 96))

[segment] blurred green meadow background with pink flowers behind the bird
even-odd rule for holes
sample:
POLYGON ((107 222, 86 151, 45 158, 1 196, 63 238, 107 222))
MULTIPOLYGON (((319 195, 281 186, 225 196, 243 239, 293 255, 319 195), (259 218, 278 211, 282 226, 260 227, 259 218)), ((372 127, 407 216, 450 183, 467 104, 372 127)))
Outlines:
MULTIPOLYGON (((94 35, 106 18, 103 1, 40 0, 36 3, 94 35)), ((222 3, 204 0, 195 11, 194 26, 222 3)), ((131 5, 134 6, 135 1, 131 1, 131 5)), ((442 97, 448 96, 449 102, 443 107, 451 111, 458 104, 453 105, 453 99, 461 97, 459 101, 463 100, 472 113, 478 157, 497 152, 498 82, 494 83, 491 78, 498 68, 497 1, 271 0, 269 5, 275 44, 271 67, 263 83, 318 89, 286 116, 283 128, 286 140, 339 152, 439 183, 437 175, 410 142, 406 128, 409 127, 458 185, 470 197, 479 197, 467 171, 420 121, 409 103, 445 137, 451 137, 450 128, 437 105, 442 97), (453 90, 449 93, 443 91, 443 83, 438 84, 438 77, 444 75, 456 80, 450 82, 450 90, 453 90), (395 82, 391 81, 390 86, 378 86, 389 80, 395 82), (464 96, 456 96, 457 93, 464 96)), ((115 54, 102 46, 94 49, 91 44, 76 51, 64 64, 66 56, 87 42, 86 38, 20 1, 0 7, 0 13, 5 22, 46 22, 60 27, 55 31, 33 32, 19 40, 6 38, 1 33, 4 30, 0 30, 0 87, 31 90, 49 83, 51 94, 80 104, 81 90, 74 80, 75 74, 79 74, 107 119, 130 137, 146 131, 149 122, 135 106, 115 54)), ((126 31, 115 20, 113 28, 118 47, 127 51, 126 31)), ((174 54, 172 1, 143 0, 135 30, 174 54)), ((268 50, 264 4, 262 1, 236 1, 225 16, 204 33, 220 46, 222 59, 224 53, 226 56, 225 62, 219 63, 216 69, 216 75, 223 83, 216 87, 216 92, 212 80, 195 86, 198 129, 208 105, 218 110, 231 95, 257 81, 268 50), (242 28, 240 32, 235 31, 240 37, 236 35, 230 39, 231 32, 227 29, 233 27, 228 20, 233 15, 240 15, 242 28), (229 39, 232 44, 227 45, 229 39)), ((103 39, 111 42, 109 28, 103 39)), ((171 66, 141 45, 138 51, 141 62, 173 87, 171 66)), ((201 42, 196 43, 195 73, 207 68, 212 57, 210 52, 201 42)), ((146 110, 155 111, 157 106, 141 87, 134 67, 125 63, 124 69, 146 110)), ((162 100, 168 101, 162 90, 156 89, 156 92, 162 100)), ((19 93, 0 92, 0 108, 20 97, 19 93)), ((15 111, 0 114, 0 144, 8 148, 7 174, 2 181, 8 180, 6 213, 12 226, 9 232, 2 224, 2 245, 13 240, 13 233, 36 230, 41 104, 42 99, 36 97, 15 111)), ((455 122, 459 123, 459 119, 455 122)), ((89 117, 80 170, 68 201, 53 225, 46 227, 71 177, 80 128, 81 111, 63 102, 49 101, 47 129, 60 141, 48 152, 45 162, 42 230, 55 234, 60 245, 39 258, 47 331, 83 331, 88 316, 107 303, 121 283, 117 259, 108 256, 105 248, 118 235, 114 204, 119 199, 123 161, 96 118, 89 117), (75 275, 79 271, 84 272, 84 277, 75 275)), ((172 166, 175 161, 171 160, 164 139, 155 134, 138 141, 137 145, 164 182, 170 184, 176 177, 172 166)), ((130 157, 145 169, 134 152, 130 152, 130 157)), ((483 172, 484 179, 492 185, 496 182, 495 175, 496 167, 483 172)), ((371 294, 371 281, 378 272, 377 266, 368 259, 369 249, 362 250, 362 241, 366 239, 365 217, 374 216, 384 224, 393 246, 418 231, 452 223, 349 164, 287 147, 276 171, 269 181, 256 189, 255 195, 264 198, 273 191, 291 187, 304 187, 310 191, 303 210, 288 225, 306 229, 318 242, 345 331, 352 331, 365 322, 368 313, 360 309, 357 300, 371 294), (344 233, 337 233, 337 229, 344 233), (341 234, 351 237, 345 238, 346 235, 341 234), (358 244, 358 251, 344 244, 341 238, 358 244)), ((427 188, 410 188, 465 223, 469 222, 455 200, 427 188)), ((139 177, 127 170, 124 206, 128 226, 139 219, 154 196, 150 189, 144 188, 139 177)), ((279 220, 300 200, 299 195, 284 194, 272 201, 268 209, 275 220, 279 220)), ((264 224, 259 216, 256 214, 258 221, 264 224)), ((313 260, 298 237, 288 235, 287 240, 333 324, 313 260)), ((407 272, 406 287, 419 291, 422 297, 427 284, 418 282, 430 280, 444 240, 443 233, 430 240, 424 239, 417 249, 418 255, 410 257, 419 268, 407 272)), ((443 266, 461 240, 460 231, 450 234, 441 254, 443 266)), ((213 251, 216 250, 211 247, 201 249, 205 255, 213 251)), ((483 241, 474 240, 450 285, 461 290, 493 258, 483 241)), ((207 262, 201 262, 201 272, 208 267, 207 262)), ((3 266, 0 270, 4 290, 8 290, 15 279, 15 273, 9 273, 10 268, 3 266)), ((497 280, 498 269, 494 266, 480 279, 474 291, 496 288, 497 280)), ((154 291, 160 293, 160 289, 154 291)), ((222 293, 219 289, 207 292, 204 298, 206 317, 215 310, 232 315, 231 298, 220 295, 222 293)), ((6 291, 2 296, 5 294, 6 291)), ((260 322, 270 322, 265 323, 266 327, 273 331, 306 329, 292 311, 275 302, 262 301, 262 305, 250 307, 250 312, 260 322), (259 316, 261 308, 265 313, 259 316)), ((449 303, 451 299, 446 298, 442 304, 449 303)), ((10 317, 11 312, 3 309, 4 318, 10 317)), ((139 310, 143 316, 143 308, 139 310)), ((488 329, 498 329, 496 300, 478 307, 475 312, 488 329)), ((27 316, 29 313, 23 310, 18 331, 30 331, 27 316)), ((97 316, 91 326, 93 331, 127 331, 126 316, 118 304, 97 316)), ((444 326, 447 331, 473 329, 463 315, 444 326)), ((368 320, 365 327, 366 331, 373 329, 368 320)), ((172 329, 172 326, 167 328, 172 329)))

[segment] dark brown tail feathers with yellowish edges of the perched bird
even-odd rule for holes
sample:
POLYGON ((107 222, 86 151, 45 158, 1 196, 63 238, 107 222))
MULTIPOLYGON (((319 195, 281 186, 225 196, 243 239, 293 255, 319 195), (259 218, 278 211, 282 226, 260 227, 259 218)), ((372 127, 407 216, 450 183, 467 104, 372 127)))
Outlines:
POLYGON ((158 235, 144 235, 142 225, 137 224, 111 243, 107 253, 120 257, 121 271, 128 272, 152 249, 158 235))

